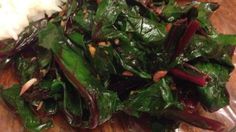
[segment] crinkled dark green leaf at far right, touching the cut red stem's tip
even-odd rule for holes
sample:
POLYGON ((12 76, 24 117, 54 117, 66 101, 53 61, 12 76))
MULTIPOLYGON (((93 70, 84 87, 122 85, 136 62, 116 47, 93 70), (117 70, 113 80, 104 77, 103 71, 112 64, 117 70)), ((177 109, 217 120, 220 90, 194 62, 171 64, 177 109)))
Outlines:
POLYGON ((210 81, 204 87, 198 87, 200 101, 209 111, 215 111, 229 104, 229 98, 225 89, 230 70, 219 64, 197 63, 194 65, 199 70, 210 76, 210 81))

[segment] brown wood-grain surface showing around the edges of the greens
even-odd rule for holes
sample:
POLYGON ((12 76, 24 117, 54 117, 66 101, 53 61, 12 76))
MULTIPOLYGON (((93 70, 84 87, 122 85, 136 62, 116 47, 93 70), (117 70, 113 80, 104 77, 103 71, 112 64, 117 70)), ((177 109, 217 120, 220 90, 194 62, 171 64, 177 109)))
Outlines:
MULTIPOLYGON (((203 0, 202 0, 203 1, 203 0)), ((206 1, 206 0, 205 0, 206 1)), ((208 0, 218 2, 221 6, 212 16, 211 21, 216 27, 217 31, 225 34, 236 33, 236 0, 208 0)), ((15 71, 12 71, 11 66, 8 66, 5 70, 0 72, 0 84, 10 86, 12 83, 17 82, 17 78, 14 76, 15 71)), ((236 87, 236 71, 233 72, 232 77, 228 83, 228 89, 230 93, 236 98, 236 90, 232 90, 236 87)), ((212 118, 211 115, 205 112, 204 115, 212 118)), ((220 118, 220 117, 219 117, 220 118)), ((190 127, 186 124, 182 124, 182 128, 187 132, 199 132, 200 129, 190 127)), ((183 130, 183 129, 182 129, 183 130)), ((24 128, 17 116, 12 113, 10 109, 0 99, 0 131, 2 132, 24 132, 24 128)), ((54 127, 47 130, 48 132, 74 132, 74 131, 93 131, 93 132, 142 132, 151 131, 148 127, 148 122, 145 119, 135 119, 127 115, 118 113, 113 118, 107 121, 105 124, 99 126, 94 130, 88 129, 73 129, 67 125, 63 117, 54 117, 54 127)))

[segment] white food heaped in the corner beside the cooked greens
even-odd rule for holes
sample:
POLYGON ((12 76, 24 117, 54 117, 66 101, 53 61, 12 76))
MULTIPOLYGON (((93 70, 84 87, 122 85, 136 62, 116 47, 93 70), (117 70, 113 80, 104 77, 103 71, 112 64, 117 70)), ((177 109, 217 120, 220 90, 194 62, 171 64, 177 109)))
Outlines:
POLYGON ((61 11, 66 0, 0 0, 0 40, 18 39, 31 21, 61 11))

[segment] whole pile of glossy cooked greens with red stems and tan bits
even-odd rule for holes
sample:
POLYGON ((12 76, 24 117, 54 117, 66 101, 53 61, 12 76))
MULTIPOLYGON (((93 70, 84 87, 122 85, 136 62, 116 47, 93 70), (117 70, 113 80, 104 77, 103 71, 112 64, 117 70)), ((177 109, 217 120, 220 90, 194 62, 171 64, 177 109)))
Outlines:
POLYGON ((222 131, 197 114, 229 104, 225 84, 236 36, 209 21, 217 3, 174 0, 69 0, 31 23, 17 41, 0 42, 0 68, 19 83, 1 97, 30 131, 62 113, 72 127, 95 128, 112 114, 150 118, 153 131, 181 121, 222 131))

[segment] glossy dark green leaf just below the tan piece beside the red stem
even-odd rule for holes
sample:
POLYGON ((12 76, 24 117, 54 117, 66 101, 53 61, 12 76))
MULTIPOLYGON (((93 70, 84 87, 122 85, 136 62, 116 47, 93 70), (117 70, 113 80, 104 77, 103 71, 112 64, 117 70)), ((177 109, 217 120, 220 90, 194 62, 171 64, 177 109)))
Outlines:
POLYGON ((181 109, 181 104, 171 92, 171 83, 170 78, 163 78, 147 88, 133 91, 125 102, 127 112, 135 116, 138 116, 140 112, 161 115, 168 108, 181 109))

